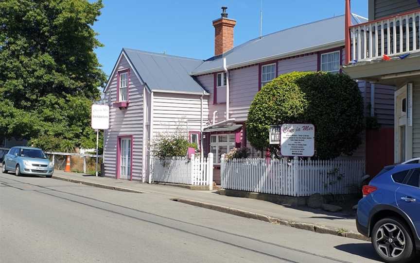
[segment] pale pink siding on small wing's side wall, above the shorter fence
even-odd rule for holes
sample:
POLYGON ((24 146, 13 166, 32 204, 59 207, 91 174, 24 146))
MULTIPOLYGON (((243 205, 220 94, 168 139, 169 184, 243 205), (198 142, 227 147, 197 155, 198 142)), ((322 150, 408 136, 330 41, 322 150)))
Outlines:
MULTIPOLYGON (((153 93, 153 140, 160 136, 200 131, 201 95, 153 93), (188 120, 188 131, 187 131, 188 120)), ((203 97, 203 127, 209 115, 209 96, 203 97)))

